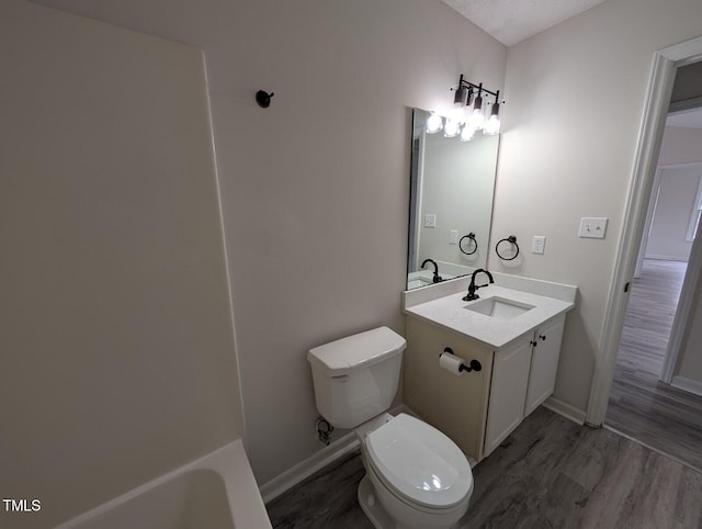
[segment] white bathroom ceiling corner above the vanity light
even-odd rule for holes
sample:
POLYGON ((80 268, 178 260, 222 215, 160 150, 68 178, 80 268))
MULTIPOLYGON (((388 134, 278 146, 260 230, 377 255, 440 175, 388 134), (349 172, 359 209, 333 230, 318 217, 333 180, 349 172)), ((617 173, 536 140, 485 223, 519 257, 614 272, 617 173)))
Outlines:
POLYGON ((506 46, 512 46, 604 0, 443 0, 506 46))

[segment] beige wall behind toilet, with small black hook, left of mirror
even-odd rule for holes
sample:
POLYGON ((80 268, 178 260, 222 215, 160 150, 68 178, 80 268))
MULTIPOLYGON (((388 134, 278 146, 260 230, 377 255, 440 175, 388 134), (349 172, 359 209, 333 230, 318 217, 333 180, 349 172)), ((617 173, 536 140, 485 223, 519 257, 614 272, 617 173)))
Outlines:
POLYGON ((201 46, 246 414, 259 483, 320 449, 306 351, 404 333, 411 112, 505 46, 440 0, 43 0, 201 46), (257 90, 275 92, 268 110, 257 90))

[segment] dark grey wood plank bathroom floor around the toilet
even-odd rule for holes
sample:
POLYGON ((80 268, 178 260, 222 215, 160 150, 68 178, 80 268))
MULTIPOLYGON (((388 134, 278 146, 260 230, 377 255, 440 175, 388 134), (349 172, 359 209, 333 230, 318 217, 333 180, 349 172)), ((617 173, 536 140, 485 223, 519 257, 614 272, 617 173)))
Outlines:
MULTIPOLYGON (((543 407, 474 469, 457 528, 698 529, 702 473, 607 429, 543 407)), ((356 500, 360 455, 269 503, 275 528, 372 529, 356 500)))

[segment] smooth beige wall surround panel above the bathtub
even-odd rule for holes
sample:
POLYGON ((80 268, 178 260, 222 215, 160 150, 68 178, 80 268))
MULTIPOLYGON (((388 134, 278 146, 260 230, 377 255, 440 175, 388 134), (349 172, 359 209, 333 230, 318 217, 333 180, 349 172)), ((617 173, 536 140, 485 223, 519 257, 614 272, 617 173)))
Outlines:
POLYGON ((2 527, 241 437, 202 53, 0 3, 2 527))

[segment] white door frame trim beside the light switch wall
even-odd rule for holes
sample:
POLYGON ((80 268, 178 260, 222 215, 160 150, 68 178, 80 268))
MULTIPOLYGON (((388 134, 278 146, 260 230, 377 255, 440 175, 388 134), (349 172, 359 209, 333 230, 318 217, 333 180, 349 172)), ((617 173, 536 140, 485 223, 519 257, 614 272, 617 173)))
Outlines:
POLYGON ((654 54, 642 125, 636 140, 634 170, 624 209, 622 244, 614 260, 614 273, 600 339, 601 350, 596 359, 595 376, 590 385, 585 419, 590 426, 602 426, 607 414, 629 302, 629 285, 636 269, 676 70, 700 59, 702 37, 669 46, 654 54))

